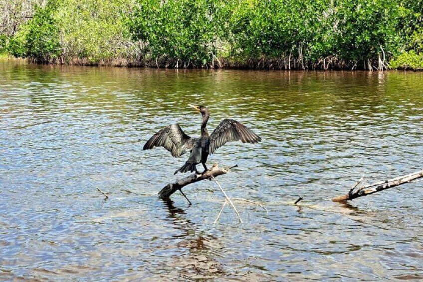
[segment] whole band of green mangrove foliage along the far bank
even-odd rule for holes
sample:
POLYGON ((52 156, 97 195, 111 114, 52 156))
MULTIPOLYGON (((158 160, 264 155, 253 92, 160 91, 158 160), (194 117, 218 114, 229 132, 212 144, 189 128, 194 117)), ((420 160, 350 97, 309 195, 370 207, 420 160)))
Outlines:
POLYGON ((0 29, 0 52, 45 62, 420 68, 423 53, 423 0, 19 1, 32 18, 0 29))

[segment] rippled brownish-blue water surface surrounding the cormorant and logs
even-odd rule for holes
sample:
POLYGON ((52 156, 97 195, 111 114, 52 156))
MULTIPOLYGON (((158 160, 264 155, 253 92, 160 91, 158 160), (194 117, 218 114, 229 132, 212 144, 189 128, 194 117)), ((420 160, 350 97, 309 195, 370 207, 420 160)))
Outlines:
POLYGON ((60 67, 0 62, 0 281, 423 279, 423 182, 330 201, 423 169, 423 73, 60 67), (214 182, 156 197, 186 159, 142 151, 160 128, 235 118, 214 182), (104 200, 96 187, 110 192, 104 200), (301 195, 300 206, 293 202, 301 195))

